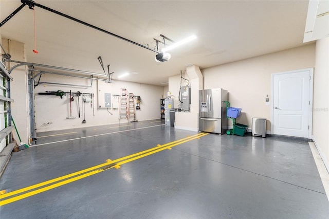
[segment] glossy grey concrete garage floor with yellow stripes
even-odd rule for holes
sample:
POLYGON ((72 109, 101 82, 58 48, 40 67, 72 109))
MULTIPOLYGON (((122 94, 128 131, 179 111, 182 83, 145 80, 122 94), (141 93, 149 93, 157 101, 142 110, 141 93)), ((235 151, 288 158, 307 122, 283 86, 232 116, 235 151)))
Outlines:
POLYGON ((1 178, 0 218, 329 216, 306 141, 202 136, 159 120, 38 136, 38 146, 13 154, 1 178))

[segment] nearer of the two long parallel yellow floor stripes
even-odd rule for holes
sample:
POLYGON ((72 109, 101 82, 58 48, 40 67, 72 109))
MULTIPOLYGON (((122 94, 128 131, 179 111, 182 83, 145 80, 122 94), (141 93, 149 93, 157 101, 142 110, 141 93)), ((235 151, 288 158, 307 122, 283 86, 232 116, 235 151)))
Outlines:
MULTIPOLYGON (((198 139, 202 136, 205 136, 205 135, 208 135, 209 133, 200 133, 198 135, 194 135, 194 137, 188 137, 189 139, 186 139, 186 140, 183 140, 183 141, 179 141, 177 140, 177 143, 174 143, 174 144, 170 144, 170 143, 167 143, 170 145, 170 147, 175 147, 181 143, 185 143, 187 141, 191 141, 193 139, 198 139)), ((20 200, 20 199, 23 199, 23 198, 27 198, 27 197, 30 197, 32 195, 35 195, 35 194, 39 194, 41 192, 45 192, 45 191, 48 191, 50 189, 54 189, 54 188, 57 188, 57 187, 60 187, 60 186, 63 186, 65 184, 69 184, 70 182, 74 182, 74 181, 77 181, 79 179, 82 179, 82 178, 85 178, 85 177, 88 177, 88 176, 91 176, 91 175, 94 175, 94 174, 97 174, 97 173, 100 173, 100 172, 103 172, 105 170, 108 170, 108 169, 112 169, 116 166, 119 166, 119 165, 122 165, 124 163, 127 163, 127 162, 131 162, 131 161, 134 161, 136 159, 140 159, 142 157, 145 157, 145 156, 148 156, 148 155, 151 155, 151 154, 154 154, 154 153, 157 153, 159 151, 163 151, 163 150, 166 150, 168 145, 166 144, 163 144, 163 147, 161 147, 160 149, 157 149, 157 150, 154 150, 154 151, 151 151, 147 154, 142 154, 140 156, 137 156, 137 157, 134 157, 134 158, 131 158, 131 159, 128 159, 128 160, 124 160, 122 162, 118 162, 119 160, 122 160, 123 158, 125 157, 122 157, 122 158, 119 158, 119 159, 116 159, 116 160, 112 160, 110 162, 106 162, 107 163, 107 166, 102 168, 102 169, 97 169, 97 170, 94 170, 94 171, 91 171, 91 172, 88 172, 88 173, 85 173, 85 174, 82 174, 80 176, 76 176, 76 177, 73 177, 73 178, 70 178, 70 179, 66 179, 66 180, 63 180, 61 182, 57 182, 56 184, 52 184, 50 186, 47 186, 47 187, 44 187, 44 188, 41 188, 41 189, 37 189, 37 190, 34 190, 34 191, 31 191, 31 192, 27 192, 25 194, 22 194, 22 195, 18 195, 18 196, 15 196, 15 197, 12 197, 12 198, 8 198, 8 199, 5 199, 5 200, 2 200, 0 201, 0 206, 3 206, 3 205, 7 205, 9 203, 12 203, 12 202, 16 202, 17 200, 20 200), (118 162, 116 163, 115 165, 111 165, 112 163, 115 163, 115 162, 118 162)), ((155 147, 155 148, 159 148, 159 147, 155 147)), ((148 151, 148 150, 147 150, 148 151)), ((138 153, 136 153, 138 154, 138 153)), ((131 156, 131 155, 130 155, 131 156)), ((126 157, 129 157, 129 156, 126 156, 126 157)), ((9 193, 7 193, 9 194, 9 193)), ((17 194, 17 193, 16 193, 17 194)))

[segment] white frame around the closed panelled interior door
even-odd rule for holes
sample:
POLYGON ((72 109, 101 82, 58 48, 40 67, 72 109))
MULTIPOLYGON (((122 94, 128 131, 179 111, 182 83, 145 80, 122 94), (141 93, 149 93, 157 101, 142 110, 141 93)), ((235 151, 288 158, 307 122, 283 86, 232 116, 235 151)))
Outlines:
POLYGON ((273 100, 274 100, 274 77, 277 75, 285 75, 285 74, 291 74, 296 73, 300 71, 309 71, 310 74, 310 80, 309 80, 309 108, 308 108, 308 139, 312 139, 312 122, 313 122, 313 78, 314 78, 314 68, 304 68, 304 69, 298 69, 298 70, 292 70, 292 71, 283 71, 278 73, 273 73, 271 75, 271 125, 270 125, 270 132, 273 135, 273 121, 274 121, 274 115, 273 115, 273 100))

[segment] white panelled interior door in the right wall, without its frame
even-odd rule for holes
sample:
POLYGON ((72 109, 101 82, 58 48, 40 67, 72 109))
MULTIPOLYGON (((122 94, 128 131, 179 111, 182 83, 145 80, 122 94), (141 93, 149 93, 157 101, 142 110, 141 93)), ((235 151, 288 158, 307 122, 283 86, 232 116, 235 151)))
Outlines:
POLYGON ((308 138, 311 70, 273 75, 273 134, 308 138))

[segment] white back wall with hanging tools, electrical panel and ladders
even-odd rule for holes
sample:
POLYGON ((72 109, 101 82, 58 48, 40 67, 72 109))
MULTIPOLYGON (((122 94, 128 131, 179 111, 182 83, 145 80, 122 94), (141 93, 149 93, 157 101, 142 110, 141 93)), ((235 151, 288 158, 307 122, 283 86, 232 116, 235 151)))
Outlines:
MULTIPOLYGON (((38 80, 38 79, 37 79, 38 80)), ((90 85, 89 79, 72 78, 66 76, 57 75, 43 75, 41 82, 56 82, 65 84, 78 84, 78 85, 90 85)), ((120 95, 120 90, 126 88, 129 93, 133 93, 135 96, 141 97, 139 111, 136 111, 136 119, 138 121, 159 119, 160 118, 160 98, 163 95, 163 87, 132 83, 124 81, 115 81, 113 84, 105 84, 104 81, 93 81, 93 86, 89 88, 83 87, 70 87, 62 85, 50 85, 40 84, 34 89, 35 94, 35 120, 36 120, 36 132, 62 130, 62 129, 74 129, 76 127, 94 126, 115 124, 119 122, 128 122, 127 119, 118 119, 118 109, 109 108, 107 112, 106 108, 98 108, 98 96, 97 89, 101 89, 104 93, 111 93, 111 95, 120 95), (95 116, 93 116, 93 108, 90 107, 90 103, 85 103, 85 120, 86 123, 82 123, 83 120, 83 102, 80 97, 80 118, 78 117, 78 99, 75 96, 75 101, 72 102, 72 116, 76 119, 66 119, 69 116, 69 94, 63 96, 61 99, 58 96, 53 95, 39 95, 40 92, 45 91, 57 91, 63 90, 69 92, 70 90, 75 93, 80 91, 81 93, 93 93, 95 94, 95 116)), ((104 98, 104 97, 101 97, 104 98)), ((117 101, 112 96, 112 101, 117 101)), ((93 103, 94 104, 94 103, 93 103)), ((136 104, 136 102, 135 102, 136 104)), ((136 106, 136 105, 135 105, 136 106)), ((132 120, 132 119, 131 119, 132 120)))

